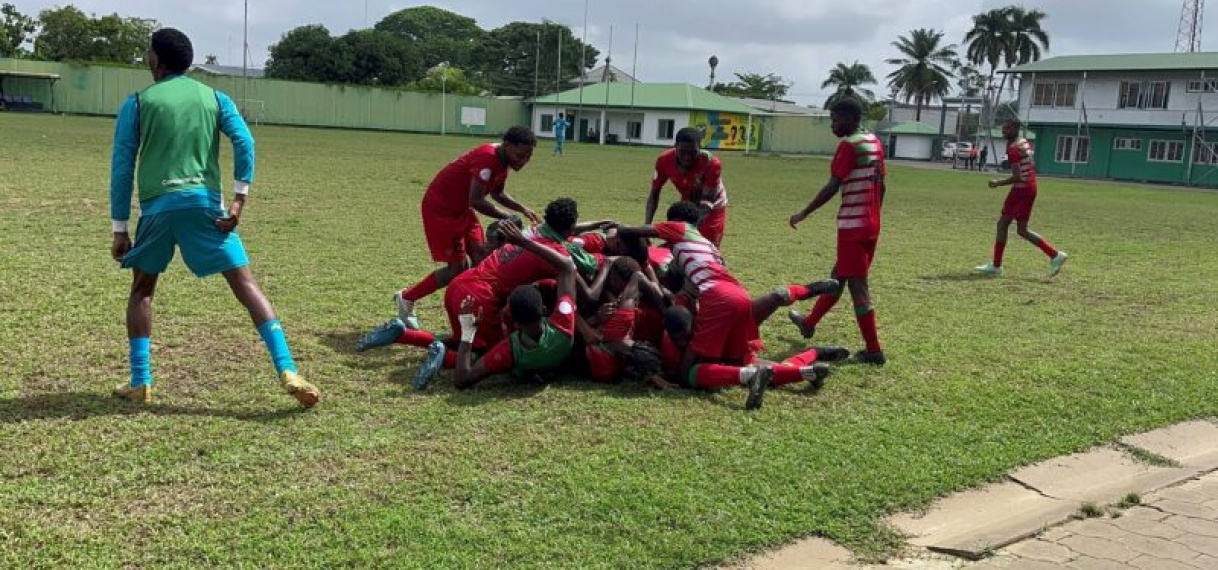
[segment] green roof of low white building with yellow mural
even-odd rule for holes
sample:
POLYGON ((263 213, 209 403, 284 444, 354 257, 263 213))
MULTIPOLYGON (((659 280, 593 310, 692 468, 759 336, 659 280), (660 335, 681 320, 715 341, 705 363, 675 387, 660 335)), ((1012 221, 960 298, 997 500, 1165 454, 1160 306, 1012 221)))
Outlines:
MULTIPOLYGON (((580 105, 581 88, 533 99, 535 105, 580 105)), ((593 83, 582 88, 585 107, 672 108, 764 114, 734 99, 688 83, 593 83), (633 89, 632 89, 633 88, 633 89), (608 91, 608 93, 607 93, 608 91), (608 99, 607 99, 608 95, 608 99)))

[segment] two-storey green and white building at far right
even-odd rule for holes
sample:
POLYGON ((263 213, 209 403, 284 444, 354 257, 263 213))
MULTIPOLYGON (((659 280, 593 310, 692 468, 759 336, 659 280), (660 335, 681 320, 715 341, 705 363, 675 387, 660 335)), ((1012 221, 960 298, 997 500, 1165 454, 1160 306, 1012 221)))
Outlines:
POLYGON ((1218 52, 1061 56, 1019 78, 1037 171, 1218 186, 1218 52))

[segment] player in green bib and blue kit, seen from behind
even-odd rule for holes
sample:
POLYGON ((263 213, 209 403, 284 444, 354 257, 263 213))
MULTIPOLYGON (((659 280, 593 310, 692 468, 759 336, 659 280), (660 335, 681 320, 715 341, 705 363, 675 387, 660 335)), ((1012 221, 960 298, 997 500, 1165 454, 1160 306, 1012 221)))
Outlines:
POLYGON ((253 181, 253 136, 228 95, 184 76, 192 60, 186 34, 158 29, 146 54, 156 83, 127 97, 118 113, 110 178, 111 256, 132 269, 133 280, 127 300, 132 373, 114 395, 133 402, 152 399, 152 295, 178 248, 196 276, 224 275, 267 343, 280 385, 312 407, 322 393, 297 374, 283 325, 250 273, 236 233, 253 181), (235 163, 235 197, 227 209, 220 133, 233 141, 235 163), (134 246, 128 233, 133 185, 140 201, 134 246))

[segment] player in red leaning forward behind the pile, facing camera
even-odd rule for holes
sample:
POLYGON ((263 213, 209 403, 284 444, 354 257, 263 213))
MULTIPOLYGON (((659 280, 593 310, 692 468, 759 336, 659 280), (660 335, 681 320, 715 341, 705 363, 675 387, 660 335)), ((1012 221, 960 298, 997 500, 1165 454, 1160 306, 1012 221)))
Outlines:
POLYGON ((655 174, 652 178, 652 194, 647 197, 647 212, 643 224, 650 225, 655 219, 655 209, 660 205, 660 190, 672 180, 681 194, 681 200, 697 203, 709 209, 700 222, 698 233, 706 237, 716 248, 723 242, 727 228, 727 189, 723 188, 723 164, 719 157, 699 147, 702 132, 686 127, 677 132, 676 146, 664 151, 655 160, 655 174))

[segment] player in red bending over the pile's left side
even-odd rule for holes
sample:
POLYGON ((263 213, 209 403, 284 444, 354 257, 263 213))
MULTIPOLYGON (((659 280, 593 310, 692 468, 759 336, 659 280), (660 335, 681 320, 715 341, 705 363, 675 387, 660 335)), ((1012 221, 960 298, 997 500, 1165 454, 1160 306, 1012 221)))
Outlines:
POLYGON ((431 295, 453 280, 479 259, 471 257, 481 251, 485 240, 477 213, 495 219, 510 216, 491 203, 520 212, 532 223, 541 217, 513 199, 504 185, 509 171, 520 171, 532 158, 537 138, 527 127, 512 127, 503 134, 503 141, 487 144, 457 157, 443 167, 428 185, 423 195, 423 230, 428 236, 431 259, 445 263, 413 287, 393 294, 398 318, 410 329, 419 328, 414 315, 414 303, 431 295))

